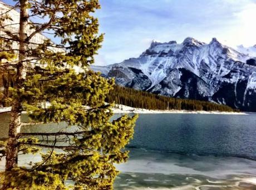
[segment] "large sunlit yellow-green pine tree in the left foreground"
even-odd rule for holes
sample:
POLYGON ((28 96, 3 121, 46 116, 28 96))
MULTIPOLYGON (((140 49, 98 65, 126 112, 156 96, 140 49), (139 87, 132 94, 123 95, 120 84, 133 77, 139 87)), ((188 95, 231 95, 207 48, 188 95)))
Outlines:
POLYGON ((112 105, 105 98, 114 80, 87 70, 103 39, 91 16, 98 8, 97 0, 20 0, 2 13, 0 39, 18 44, 18 49, 12 45, 1 49, 17 55, 16 60, 0 64, 4 74, 14 75, 8 139, 0 143, 1 157, 6 157, 6 170, 0 173, 2 189, 112 189, 118 173, 113 164, 127 160, 123 148, 133 135, 137 116, 110 121, 112 105), (6 23, 12 21, 8 14, 12 9, 19 10, 19 22, 11 24, 19 25, 18 32, 8 30, 6 23), (38 22, 32 23, 35 18, 38 22), (33 40, 40 33, 60 42, 33 40), (21 121, 22 111, 31 122, 21 121), (20 132, 23 126, 60 122, 71 132, 20 132), (18 166, 18 155, 27 153, 41 153, 42 161, 18 166))

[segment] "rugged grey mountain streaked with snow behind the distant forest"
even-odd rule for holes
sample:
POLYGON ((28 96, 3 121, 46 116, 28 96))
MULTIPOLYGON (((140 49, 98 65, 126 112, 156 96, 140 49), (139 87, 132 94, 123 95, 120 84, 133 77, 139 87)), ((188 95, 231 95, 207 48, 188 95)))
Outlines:
POLYGON ((256 111, 256 55, 240 49, 216 38, 209 44, 194 38, 152 42, 139 58, 92 69, 122 86, 256 111))

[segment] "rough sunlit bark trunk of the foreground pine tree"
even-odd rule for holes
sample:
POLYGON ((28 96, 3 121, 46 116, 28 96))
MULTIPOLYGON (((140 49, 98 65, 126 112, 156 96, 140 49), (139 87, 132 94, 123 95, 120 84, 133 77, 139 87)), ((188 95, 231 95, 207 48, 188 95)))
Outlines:
MULTIPOLYGON (((17 78, 16 88, 17 90, 23 88, 24 81, 26 80, 27 73, 27 24, 28 13, 27 4, 28 0, 20 0, 20 18, 19 18, 19 53, 18 53, 18 66, 17 66, 17 78)), ((21 129, 21 111, 22 102, 15 97, 12 101, 11 110, 11 123, 9 125, 9 136, 7 143, 6 153, 6 171, 11 171, 12 168, 17 167, 18 164, 18 133, 21 129)))

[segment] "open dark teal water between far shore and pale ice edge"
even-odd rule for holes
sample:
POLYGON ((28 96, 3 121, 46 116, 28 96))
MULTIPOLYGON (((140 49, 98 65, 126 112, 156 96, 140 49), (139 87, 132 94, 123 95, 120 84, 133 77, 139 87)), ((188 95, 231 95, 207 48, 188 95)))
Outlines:
POLYGON ((256 160, 256 114, 141 114, 130 147, 256 160))

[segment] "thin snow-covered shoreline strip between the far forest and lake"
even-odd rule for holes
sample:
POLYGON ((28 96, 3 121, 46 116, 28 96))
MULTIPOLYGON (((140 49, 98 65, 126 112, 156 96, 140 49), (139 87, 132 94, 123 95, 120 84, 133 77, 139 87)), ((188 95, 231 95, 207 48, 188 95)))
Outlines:
MULTIPOLYGON (((116 105, 113 107, 114 114, 222 114, 222 115, 248 115, 244 112, 228 111, 190 111, 190 110, 147 110, 134 108, 125 105, 116 105)), ((0 107, 0 113, 11 111, 11 107, 0 107)))

